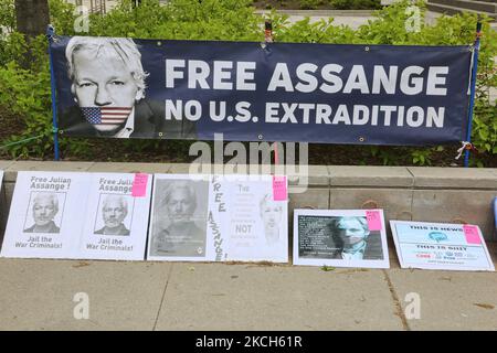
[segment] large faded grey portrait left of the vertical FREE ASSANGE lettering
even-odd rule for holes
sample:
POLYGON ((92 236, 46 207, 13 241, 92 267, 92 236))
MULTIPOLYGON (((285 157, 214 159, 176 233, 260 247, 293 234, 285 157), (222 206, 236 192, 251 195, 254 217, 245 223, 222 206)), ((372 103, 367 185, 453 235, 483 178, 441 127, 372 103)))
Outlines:
POLYGON ((150 255, 204 256, 208 182, 158 180, 157 183, 150 255))

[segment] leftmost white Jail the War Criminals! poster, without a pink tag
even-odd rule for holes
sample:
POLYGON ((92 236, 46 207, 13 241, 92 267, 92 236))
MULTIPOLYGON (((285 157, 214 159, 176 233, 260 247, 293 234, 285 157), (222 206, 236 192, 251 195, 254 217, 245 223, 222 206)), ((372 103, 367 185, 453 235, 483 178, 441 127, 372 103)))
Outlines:
POLYGON ((0 256, 74 258, 87 185, 82 173, 18 172, 0 256))

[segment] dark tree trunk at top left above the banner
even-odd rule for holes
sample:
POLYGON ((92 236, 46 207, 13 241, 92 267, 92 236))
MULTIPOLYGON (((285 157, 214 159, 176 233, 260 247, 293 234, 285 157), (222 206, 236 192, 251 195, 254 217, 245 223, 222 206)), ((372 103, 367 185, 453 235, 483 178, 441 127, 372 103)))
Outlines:
POLYGON ((46 33, 50 22, 49 0, 15 0, 18 31, 29 39, 46 33))

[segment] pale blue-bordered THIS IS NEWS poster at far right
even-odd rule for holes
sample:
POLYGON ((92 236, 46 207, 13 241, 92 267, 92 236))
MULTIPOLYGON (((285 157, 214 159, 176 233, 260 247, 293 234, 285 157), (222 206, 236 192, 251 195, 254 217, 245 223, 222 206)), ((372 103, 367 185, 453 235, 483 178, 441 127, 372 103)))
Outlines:
POLYGON ((495 270, 478 226, 390 221, 402 268, 495 270))

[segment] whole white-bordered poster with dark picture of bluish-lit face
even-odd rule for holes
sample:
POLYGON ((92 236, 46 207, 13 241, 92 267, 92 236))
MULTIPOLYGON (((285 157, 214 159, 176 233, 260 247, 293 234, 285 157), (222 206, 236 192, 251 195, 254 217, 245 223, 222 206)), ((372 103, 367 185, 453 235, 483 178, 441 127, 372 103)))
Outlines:
POLYGON ((389 268, 382 210, 295 210, 294 265, 389 268))

